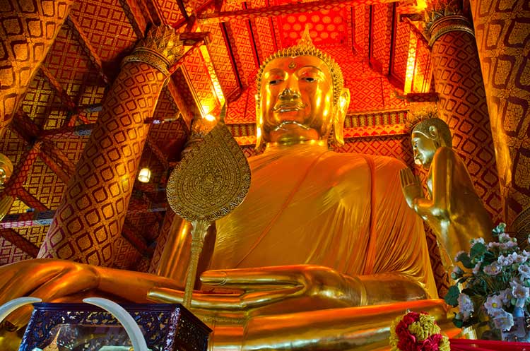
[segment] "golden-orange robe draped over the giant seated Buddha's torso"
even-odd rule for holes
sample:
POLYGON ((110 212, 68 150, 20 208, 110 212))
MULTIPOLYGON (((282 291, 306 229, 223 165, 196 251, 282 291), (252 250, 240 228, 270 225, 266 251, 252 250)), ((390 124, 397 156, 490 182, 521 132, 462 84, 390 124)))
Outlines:
POLYGON ((391 157, 319 145, 269 147, 249 159, 242 205, 218 220, 211 269, 313 264, 346 275, 403 273, 437 297, 425 232, 391 157))

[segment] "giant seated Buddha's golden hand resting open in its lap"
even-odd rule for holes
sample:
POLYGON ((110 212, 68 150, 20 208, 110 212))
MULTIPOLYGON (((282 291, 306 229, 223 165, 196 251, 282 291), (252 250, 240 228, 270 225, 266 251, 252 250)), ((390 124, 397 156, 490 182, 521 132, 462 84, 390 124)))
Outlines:
MULTIPOLYGON (((203 311, 358 306, 363 291, 356 278, 310 265, 208 270, 201 281, 213 286, 211 292, 193 295, 192 307, 203 311)), ((159 302, 181 302, 182 292, 155 287, 148 297, 159 302)))

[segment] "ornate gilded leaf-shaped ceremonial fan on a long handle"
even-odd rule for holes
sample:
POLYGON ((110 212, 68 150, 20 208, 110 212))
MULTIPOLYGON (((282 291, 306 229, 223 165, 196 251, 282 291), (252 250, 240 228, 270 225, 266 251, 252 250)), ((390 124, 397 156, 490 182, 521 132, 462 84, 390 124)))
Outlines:
POLYGON ((223 106, 220 121, 184 155, 167 181, 167 202, 193 225, 185 307, 192 302, 197 263, 208 227, 239 206, 249 191, 249 164, 224 123, 225 114, 223 106))

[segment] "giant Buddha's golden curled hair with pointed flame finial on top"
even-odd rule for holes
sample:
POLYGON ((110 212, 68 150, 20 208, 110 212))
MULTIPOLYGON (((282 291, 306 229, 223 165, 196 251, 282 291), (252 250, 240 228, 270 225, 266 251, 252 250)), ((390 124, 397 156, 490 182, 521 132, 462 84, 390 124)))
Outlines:
POLYGON ((261 64, 261 66, 259 67, 256 82, 258 87, 258 101, 261 100, 261 77, 263 76, 265 66, 274 59, 297 56, 315 56, 326 63, 326 66, 328 66, 328 69, 331 72, 331 78, 333 79, 333 104, 337 105, 338 100, 341 96, 341 90, 344 87, 344 78, 342 76, 341 67, 338 66, 336 61, 332 59, 331 56, 320 51, 319 49, 317 49, 317 47, 314 46, 311 40, 309 27, 307 26, 305 27, 302 37, 296 45, 275 52, 274 54, 269 56, 265 61, 263 61, 263 64, 261 64))

